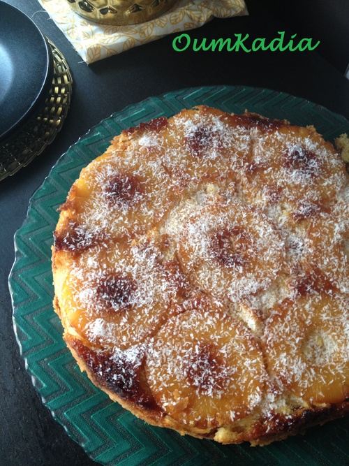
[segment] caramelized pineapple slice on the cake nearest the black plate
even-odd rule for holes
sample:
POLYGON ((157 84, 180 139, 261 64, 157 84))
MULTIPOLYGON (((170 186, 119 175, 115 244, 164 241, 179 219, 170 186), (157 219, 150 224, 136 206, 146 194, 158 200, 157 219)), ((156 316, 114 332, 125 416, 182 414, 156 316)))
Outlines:
POLYGON ((126 238, 156 226, 177 194, 159 160, 136 145, 124 151, 112 146, 82 170, 61 210, 90 235, 126 238))

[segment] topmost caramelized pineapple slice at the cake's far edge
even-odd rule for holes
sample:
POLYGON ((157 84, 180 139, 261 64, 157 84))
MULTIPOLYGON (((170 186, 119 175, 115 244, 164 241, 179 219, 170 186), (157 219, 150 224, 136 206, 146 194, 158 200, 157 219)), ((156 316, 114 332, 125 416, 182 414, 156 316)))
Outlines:
POLYGON ((251 135, 234 116, 202 105, 168 119, 150 147, 172 180, 190 188, 203 180, 239 179, 251 135))

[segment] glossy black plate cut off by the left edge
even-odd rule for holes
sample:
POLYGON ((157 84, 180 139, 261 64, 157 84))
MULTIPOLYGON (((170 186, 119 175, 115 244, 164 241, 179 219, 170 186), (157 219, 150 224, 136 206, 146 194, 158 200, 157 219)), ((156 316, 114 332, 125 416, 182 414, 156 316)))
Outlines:
POLYGON ((36 24, 0 0, 0 140, 43 104, 52 84, 52 52, 36 24))

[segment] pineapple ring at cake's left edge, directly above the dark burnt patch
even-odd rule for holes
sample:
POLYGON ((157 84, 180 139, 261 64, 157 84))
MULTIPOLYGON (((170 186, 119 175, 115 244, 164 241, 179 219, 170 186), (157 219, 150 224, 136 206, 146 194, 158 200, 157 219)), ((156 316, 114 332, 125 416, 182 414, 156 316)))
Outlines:
POLYGON ((101 348, 126 349, 142 342, 171 315, 178 291, 174 272, 158 252, 124 243, 82 253, 59 296, 69 326, 101 348))

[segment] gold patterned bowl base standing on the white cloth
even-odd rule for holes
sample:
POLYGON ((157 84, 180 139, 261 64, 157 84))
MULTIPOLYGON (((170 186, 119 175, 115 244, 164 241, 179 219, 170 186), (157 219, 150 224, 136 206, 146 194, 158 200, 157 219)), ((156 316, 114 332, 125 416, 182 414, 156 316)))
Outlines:
POLYGON ((158 17, 177 0, 67 0, 80 16, 100 24, 139 24, 158 17))

